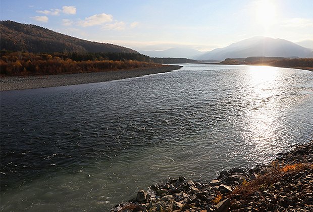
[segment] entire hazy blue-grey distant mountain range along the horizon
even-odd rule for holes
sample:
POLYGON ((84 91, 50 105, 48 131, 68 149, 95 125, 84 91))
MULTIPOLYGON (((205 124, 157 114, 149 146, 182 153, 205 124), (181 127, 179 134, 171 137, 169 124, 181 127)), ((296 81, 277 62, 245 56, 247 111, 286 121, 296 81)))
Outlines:
POLYGON ((189 58, 195 60, 223 61, 227 58, 247 57, 313 57, 313 41, 293 43, 284 39, 256 36, 241 40, 224 48, 201 52, 192 48, 169 48, 160 51, 140 51, 150 57, 189 58), (305 47, 303 47, 305 46, 305 47))

